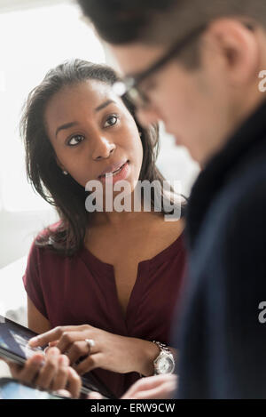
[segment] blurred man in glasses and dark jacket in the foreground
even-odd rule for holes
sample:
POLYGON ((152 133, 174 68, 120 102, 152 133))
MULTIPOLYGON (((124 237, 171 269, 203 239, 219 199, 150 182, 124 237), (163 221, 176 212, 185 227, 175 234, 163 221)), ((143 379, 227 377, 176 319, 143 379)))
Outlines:
POLYGON ((266 2, 79 3, 128 76, 120 92, 140 121, 162 120, 203 167, 188 205, 182 330, 174 325, 177 395, 266 397, 266 2))

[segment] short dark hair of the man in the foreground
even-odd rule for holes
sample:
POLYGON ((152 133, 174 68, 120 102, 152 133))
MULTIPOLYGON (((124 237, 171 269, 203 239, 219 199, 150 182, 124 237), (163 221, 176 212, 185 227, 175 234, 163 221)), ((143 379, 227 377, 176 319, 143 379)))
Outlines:
MULTIPOLYGON (((222 17, 249 18, 266 27, 265 0, 78 0, 109 44, 171 44, 222 17)), ((180 59, 195 60, 199 39, 180 59), (192 51, 193 50, 193 51, 192 51)), ((188 66, 191 66, 186 62, 188 66)), ((192 63, 191 63, 192 64, 192 63)))

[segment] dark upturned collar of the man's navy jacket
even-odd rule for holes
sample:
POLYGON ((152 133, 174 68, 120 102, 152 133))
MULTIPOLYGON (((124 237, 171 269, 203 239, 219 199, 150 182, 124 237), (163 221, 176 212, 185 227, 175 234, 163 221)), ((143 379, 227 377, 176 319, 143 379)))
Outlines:
POLYGON ((186 238, 192 249, 200 226, 215 195, 223 188, 238 164, 266 138, 266 100, 246 119, 200 172, 186 210, 186 238))

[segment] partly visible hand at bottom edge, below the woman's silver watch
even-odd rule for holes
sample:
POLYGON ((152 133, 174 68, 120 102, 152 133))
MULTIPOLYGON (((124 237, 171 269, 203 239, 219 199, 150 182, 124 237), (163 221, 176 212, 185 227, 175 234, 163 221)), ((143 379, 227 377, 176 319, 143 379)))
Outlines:
MULTIPOLYGON (((170 399, 175 396, 177 376, 156 375, 135 382, 121 399, 170 399)), ((98 392, 90 392, 88 399, 102 399, 98 392)))

